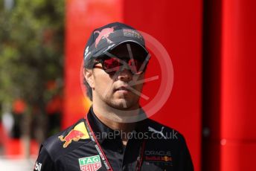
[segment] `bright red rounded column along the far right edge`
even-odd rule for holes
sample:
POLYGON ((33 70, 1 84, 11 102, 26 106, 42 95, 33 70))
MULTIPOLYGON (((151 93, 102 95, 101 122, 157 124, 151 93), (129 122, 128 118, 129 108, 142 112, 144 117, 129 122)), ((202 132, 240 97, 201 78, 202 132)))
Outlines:
POLYGON ((256 1, 224 0, 221 170, 256 170, 256 1))

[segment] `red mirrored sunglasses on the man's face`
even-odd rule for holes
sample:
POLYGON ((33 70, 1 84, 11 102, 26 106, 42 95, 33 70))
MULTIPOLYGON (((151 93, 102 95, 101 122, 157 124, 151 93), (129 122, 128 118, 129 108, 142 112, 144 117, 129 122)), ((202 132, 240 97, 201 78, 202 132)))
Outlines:
POLYGON ((110 75, 116 74, 118 71, 122 71, 124 68, 129 69, 132 74, 138 75, 142 74, 146 68, 147 63, 149 61, 149 57, 144 59, 135 58, 117 58, 117 57, 100 57, 96 59, 94 68, 103 68, 103 70, 110 75), (98 63, 102 65, 96 66, 98 63))

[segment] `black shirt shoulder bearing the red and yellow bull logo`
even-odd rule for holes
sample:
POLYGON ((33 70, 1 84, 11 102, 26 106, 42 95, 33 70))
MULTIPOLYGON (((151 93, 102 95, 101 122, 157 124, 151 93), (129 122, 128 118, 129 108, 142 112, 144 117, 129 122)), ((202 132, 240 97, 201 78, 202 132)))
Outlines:
POLYGON ((79 148, 89 139, 89 133, 87 132, 84 120, 81 119, 62 132, 52 135, 42 143, 41 148, 48 152, 52 160, 56 160, 60 156, 79 148))

